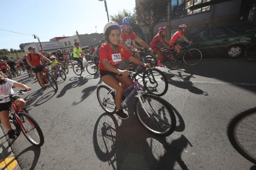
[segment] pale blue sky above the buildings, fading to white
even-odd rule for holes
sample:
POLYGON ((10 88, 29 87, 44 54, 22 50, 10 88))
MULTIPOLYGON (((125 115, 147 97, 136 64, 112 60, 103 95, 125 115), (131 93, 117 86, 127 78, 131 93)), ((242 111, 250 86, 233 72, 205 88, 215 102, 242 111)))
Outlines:
MULTIPOLYGON (((107 0, 108 14, 123 9, 133 12, 135 0, 107 0)), ((104 1, 98 0, 4 0, 0 29, 36 34, 40 41, 76 33, 102 33, 108 22, 104 1)), ((110 17, 109 17, 110 18, 110 17)), ((0 30, 0 49, 19 49, 21 43, 37 42, 32 36, 0 30)))

